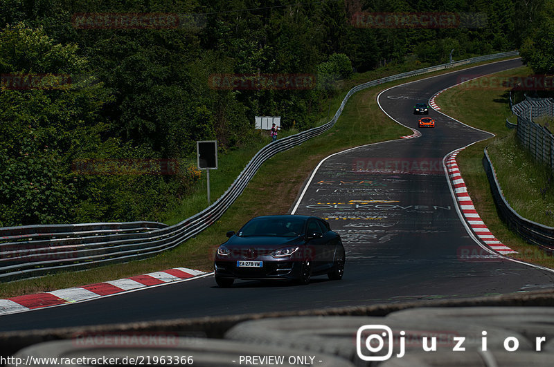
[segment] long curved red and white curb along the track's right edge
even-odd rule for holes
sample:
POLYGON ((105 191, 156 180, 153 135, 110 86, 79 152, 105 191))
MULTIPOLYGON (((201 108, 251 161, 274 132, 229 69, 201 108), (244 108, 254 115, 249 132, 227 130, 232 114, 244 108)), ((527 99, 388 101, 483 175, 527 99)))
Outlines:
POLYGON ((465 187, 465 182, 461 176, 458 164, 456 163, 456 156, 461 150, 462 149, 458 149, 457 151, 450 153, 445 160, 445 164, 450 182, 452 182, 454 194, 456 195, 456 200, 458 200, 458 205, 463 216, 465 217, 465 220, 467 221, 467 224, 470 226, 475 236, 488 245, 488 247, 492 250, 502 255, 517 254, 516 251, 510 249, 510 247, 504 245, 498 240, 498 238, 494 237, 494 234, 490 232, 487 225, 485 225, 475 210, 472 198, 470 197, 470 194, 467 194, 467 187, 465 187))

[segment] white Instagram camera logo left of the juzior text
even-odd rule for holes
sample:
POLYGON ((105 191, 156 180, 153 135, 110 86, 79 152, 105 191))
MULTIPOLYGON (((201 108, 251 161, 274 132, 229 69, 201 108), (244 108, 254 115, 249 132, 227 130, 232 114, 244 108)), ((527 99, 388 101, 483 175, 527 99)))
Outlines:
POLYGON ((364 361, 386 361, 393 355, 393 330, 385 325, 361 326, 356 334, 356 352, 364 361), (385 344, 386 354, 379 353, 385 344))

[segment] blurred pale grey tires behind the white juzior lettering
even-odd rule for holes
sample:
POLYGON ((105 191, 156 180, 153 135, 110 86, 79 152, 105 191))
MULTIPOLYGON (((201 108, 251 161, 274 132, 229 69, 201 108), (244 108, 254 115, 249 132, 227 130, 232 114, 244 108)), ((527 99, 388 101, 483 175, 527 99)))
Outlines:
POLYGON ((548 366, 548 359, 554 357, 546 343, 554 337, 554 326, 548 325, 548 320, 554 321, 554 311, 546 307, 414 308, 386 317, 245 321, 231 328, 225 337, 256 346, 296 346, 310 352, 326 352, 356 366, 375 366, 388 350, 391 355, 381 361, 390 359, 379 366, 493 366, 483 363, 483 352, 501 362, 497 366, 521 366, 522 361, 548 366), (386 337, 380 339, 384 341, 381 348, 366 348, 364 340, 382 332, 386 337), (536 337, 545 338, 541 352, 536 351, 536 337), (436 350, 425 352, 433 338, 436 350), (463 343, 458 344, 461 338, 463 343), (510 343, 516 341, 517 351, 509 351, 513 347, 510 343), (458 347, 464 350, 456 350, 458 347))

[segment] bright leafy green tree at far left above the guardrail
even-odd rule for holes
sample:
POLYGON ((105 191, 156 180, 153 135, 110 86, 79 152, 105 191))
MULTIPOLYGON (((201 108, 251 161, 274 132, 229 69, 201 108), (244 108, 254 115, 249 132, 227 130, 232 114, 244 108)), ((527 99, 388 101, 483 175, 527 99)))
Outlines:
POLYGON ((1 86, 1 225, 73 218, 78 188, 66 153, 94 149, 95 137, 105 131, 99 111, 110 101, 102 84, 90 86, 89 78, 79 78, 88 69, 77 50, 23 23, 0 32, 0 73, 41 80, 35 86, 1 86), (68 83, 69 75, 75 83, 68 83), (51 84, 48 77, 62 77, 65 83, 51 84))

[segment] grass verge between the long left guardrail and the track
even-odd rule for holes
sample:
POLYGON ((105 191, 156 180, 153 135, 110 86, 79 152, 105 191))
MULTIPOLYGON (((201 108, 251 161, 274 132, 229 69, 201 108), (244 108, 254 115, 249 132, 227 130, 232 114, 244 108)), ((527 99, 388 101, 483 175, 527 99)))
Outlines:
MULTIPOLYGON (((486 64, 486 62, 479 64, 486 64)), ((479 64, 472 64, 470 67, 479 64)), ((404 68, 405 66, 402 66, 398 70, 389 68, 388 70, 391 70, 391 72, 388 75, 401 73, 405 71, 404 68)), ((244 224, 252 216, 286 213, 294 203, 303 182, 321 159, 351 147, 397 139, 402 135, 411 134, 411 130, 396 124, 379 109, 376 97, 380 91, 397 84, 432 75, 449 73, 463 68, 467 68, 467 66, 406 78, 356 93, 350 98, 339 121, 330 131, 303 143, 300 147, 279 153, 274 158, 271 158, 271 160, 265 162, 260 167, 258 173, 256 173, 256 176, 253 177, 242 196, 226 211, 220 220, 217 220, 211 227, 208 227, 208 229, 195 238, 191 238, 173 250, 168 250, 143 261, 109 265, 80 272, 63 272, 35 279, 3 283, 0 288, 0 298, 110 281, 136 274, 165 270, 171 267, 190 267, 211 271, 213 253, 215 248, 226 240, 225 233, 231 229, 238 229, 240 225, 244 224)), ((378 79, 384 76, 382 73, 382 70, 364 73, 366 79, 360 80, 359 76, 357 76, 355 84, 378 79)), ((337 111, 349 87, 350 84, 346 86, 343 93, 340 93, 338 97, 331 101, 332 113, 337 111)), ((324 117, 326 115, 327 113, 325 112, 324 117)), ((326 122, 327 120, 323 119, 322 121, 326 122)), ((283 136, 285 134, 281 133, 280 138, 283 138, 283 136)), ((244 151, 233 152, 229 155, 229 158, 225 159, 229 161, 242 159, 242 163, 233 163, 234 168, 225 171, 225 174, 223 174, 223 168, 217 170, 217 173, 220 173, 219 175, 212 175, 211 173, 213 198, 223 194, 224 190, 235 180, 244 164, 247 163, 256 151, 256 147, 252 147, 251 150, 249 148, 244 151), (240 158, 240 155, 243 155, 243 157, 240 158), (221 180, 221 183, 215 184, 217 180, 221 180), (217 189, 214 187, 217 187, 217 189)), ((220 167, 222 165, 223 160, 220 161, 220 167)), ((166 223, 178 223, 180 220, 204 209, 207 204, 205 185, 205 181, 203 183, 200 182, 194 194, 194 204, 185 205, 175 211, 169 216, 170 218, 166 223)))

